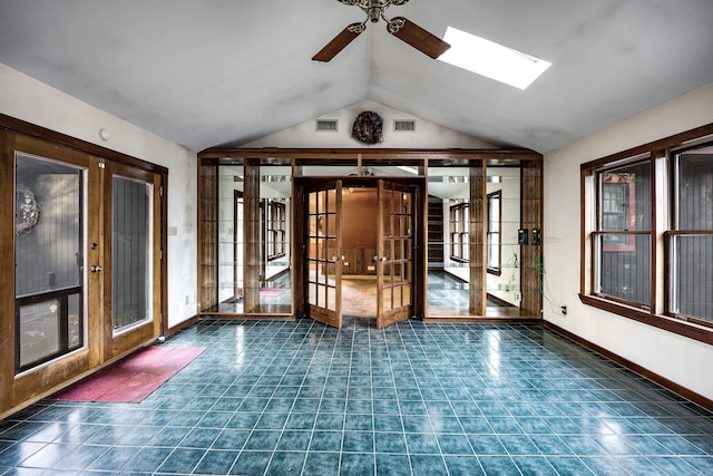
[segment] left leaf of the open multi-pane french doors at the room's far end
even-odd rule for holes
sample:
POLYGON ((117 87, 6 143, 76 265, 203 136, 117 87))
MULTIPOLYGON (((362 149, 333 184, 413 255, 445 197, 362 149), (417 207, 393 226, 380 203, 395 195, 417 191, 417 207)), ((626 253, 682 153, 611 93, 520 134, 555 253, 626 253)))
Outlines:
POLYGON ((313 184, 305 191, 306 313, 342 327, 342 181, 313 184))

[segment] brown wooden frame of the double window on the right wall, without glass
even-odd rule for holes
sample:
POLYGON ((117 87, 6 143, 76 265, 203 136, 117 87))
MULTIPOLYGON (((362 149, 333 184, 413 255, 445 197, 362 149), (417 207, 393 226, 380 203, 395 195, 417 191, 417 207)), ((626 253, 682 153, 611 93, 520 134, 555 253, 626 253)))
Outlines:
POLYGON ((673 154, 703 144, 713 144, 713 124, 707 124, 681 134, 665 137, 645 145, 622 150, 580 165, 580 285, 579 300, 586 304, 674 332, 701 342, 713 344, 713 326, 695 319, 683 319, 671 312, 671 254, 675 229, 675 158, 673 154), (645 158, 645 157, 648 158, 645 158), (651 305, 637 305, 595 292, 596 233, 599 215, 597 173, 634 162, 649 161, 651 175, 651 305))

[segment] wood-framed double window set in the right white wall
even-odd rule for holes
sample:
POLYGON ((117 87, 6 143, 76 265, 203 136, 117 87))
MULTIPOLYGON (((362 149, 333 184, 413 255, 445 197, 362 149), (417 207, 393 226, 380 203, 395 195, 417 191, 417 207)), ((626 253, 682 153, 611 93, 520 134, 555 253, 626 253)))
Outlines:
POLYGON ((713 343, 713 125, 582 165, 584 303, 713 343))

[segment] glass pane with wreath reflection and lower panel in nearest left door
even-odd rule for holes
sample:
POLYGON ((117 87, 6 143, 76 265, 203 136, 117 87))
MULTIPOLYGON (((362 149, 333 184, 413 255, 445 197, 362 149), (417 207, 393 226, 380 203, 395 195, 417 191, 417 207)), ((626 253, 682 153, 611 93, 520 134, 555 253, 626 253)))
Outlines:
POLYGON ((16 156, 17 370, 84 344, 85 169, 16 156))

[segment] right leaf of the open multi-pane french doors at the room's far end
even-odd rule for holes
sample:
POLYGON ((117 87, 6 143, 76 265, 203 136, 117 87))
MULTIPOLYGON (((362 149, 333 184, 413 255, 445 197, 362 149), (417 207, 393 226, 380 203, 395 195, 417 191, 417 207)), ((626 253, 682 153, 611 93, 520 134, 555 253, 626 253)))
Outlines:
POLYGON ((414 196, 408 185, 379 181, 377 328, 413 315, 414 196))

